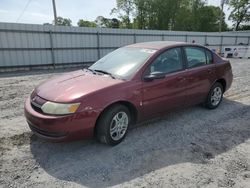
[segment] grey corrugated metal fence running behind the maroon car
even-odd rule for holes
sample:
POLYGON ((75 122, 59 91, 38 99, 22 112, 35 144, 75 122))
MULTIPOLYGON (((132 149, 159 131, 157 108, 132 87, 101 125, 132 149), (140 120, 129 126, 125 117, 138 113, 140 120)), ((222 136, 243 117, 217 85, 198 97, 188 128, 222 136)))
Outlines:
POLYGON ((248 32, 175 32, 0 23, 0 69, 83 65, 136 42, 186 41, 223 46, 249 44, 248 32))

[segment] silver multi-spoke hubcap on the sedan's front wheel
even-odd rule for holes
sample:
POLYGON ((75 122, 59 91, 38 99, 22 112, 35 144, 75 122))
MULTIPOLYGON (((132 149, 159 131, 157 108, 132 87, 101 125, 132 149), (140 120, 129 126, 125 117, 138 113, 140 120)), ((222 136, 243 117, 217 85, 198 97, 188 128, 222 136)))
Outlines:
POLYGON ((118 112, 110 123, 110 136, 113 140, 120 140, 128 129, 128 115, 125 112, 118 112))

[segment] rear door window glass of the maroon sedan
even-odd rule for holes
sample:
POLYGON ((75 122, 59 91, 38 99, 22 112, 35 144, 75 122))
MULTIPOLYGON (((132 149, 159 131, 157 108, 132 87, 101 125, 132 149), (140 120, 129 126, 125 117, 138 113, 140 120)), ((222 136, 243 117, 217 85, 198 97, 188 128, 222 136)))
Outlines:
POLYGON ((186 47, 185 48, 188 68, 199 67, 207 63, 205 50, 199 47, 186 47))

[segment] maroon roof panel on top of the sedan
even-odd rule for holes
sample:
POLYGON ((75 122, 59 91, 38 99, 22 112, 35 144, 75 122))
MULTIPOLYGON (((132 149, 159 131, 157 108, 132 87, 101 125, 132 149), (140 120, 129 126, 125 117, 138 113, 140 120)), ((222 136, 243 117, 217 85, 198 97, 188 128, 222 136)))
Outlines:
POLYGON ((167 47, 177 47, 177 46, 186 46, 186 45, 198 46, 196 44, 191 44, 191 43, 187 43, 187 42, 153 41, 153 42, 143 42, 143 43, 131 44, 131 45, 128 45, 126 47, 149 48, 149 49, 161 50, 161 49, 167 48, 167 47))

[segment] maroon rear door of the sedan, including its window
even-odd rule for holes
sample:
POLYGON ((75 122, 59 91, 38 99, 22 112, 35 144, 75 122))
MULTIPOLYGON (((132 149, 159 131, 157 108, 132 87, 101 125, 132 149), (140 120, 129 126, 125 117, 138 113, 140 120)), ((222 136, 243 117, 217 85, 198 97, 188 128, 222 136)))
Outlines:
POLYGON ((187 74, 187 104, 204 102, 216 79, 212 53, 202 47, 184 47, 187 74))

